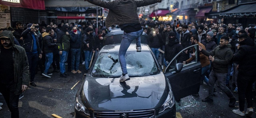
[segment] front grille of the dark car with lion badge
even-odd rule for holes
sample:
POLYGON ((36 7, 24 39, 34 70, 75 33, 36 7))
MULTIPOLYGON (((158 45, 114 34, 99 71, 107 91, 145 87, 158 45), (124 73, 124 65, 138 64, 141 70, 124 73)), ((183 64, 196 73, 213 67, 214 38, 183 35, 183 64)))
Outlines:
POLYGON ((94 118, 153 118, 156 110, 142 111, 117 111, 117 112, 93 112, 94 118))

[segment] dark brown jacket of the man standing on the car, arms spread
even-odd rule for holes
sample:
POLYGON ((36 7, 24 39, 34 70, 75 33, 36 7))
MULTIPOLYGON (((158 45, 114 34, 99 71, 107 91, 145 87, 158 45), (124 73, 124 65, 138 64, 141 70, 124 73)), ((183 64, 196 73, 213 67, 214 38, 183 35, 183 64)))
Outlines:
POLYGON ((139 24, 140 21, 137 14, 137 7, 155 4, 157 3, 157 0, 114 0, 112 2, 93 0, 89 1, 89 3, 109 9, 105 24, 106 27, 110 27, 113 24, 139 24))

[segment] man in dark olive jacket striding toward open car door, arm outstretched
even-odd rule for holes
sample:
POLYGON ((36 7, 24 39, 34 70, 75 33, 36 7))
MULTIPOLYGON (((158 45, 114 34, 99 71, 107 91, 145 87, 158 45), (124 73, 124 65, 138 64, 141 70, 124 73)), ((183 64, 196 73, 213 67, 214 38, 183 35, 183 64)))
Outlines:
POLYGON ((228 64, 233 57, 233 53, 231 50, 231 45, 228 44, 229 38, 228 36, 222 36, 220 38, 220 45, 218 45, 211 52, 207 52, 203 49, 203 47, 199 46, 199 51, 204 55, 209 57, 209 60, 212 61, 213 69, 209 75, 209 94, 207 98, 202 99, 203 102, 213 102, 213 91, 214 84, 218 80, 220 89, 225 92, 225 94, 230 99, 228 106, 234 107, 236 103, 236 98, 226 86, 226 76, 228 73, 228 64), (213 58, 214 56, 214 58, 213 58))

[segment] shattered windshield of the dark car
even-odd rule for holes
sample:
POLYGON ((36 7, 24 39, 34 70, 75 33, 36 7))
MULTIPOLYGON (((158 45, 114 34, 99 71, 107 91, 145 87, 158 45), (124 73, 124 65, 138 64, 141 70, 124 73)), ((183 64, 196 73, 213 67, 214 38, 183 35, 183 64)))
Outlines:
MULTIPOLYGON (((159 74, 158 67, 150 51, 127 51, 125 59, 130 77, 159 74)), ((118 52, 100 53, 92 68, 93 77, 117 78, 122 74, 118 52)))

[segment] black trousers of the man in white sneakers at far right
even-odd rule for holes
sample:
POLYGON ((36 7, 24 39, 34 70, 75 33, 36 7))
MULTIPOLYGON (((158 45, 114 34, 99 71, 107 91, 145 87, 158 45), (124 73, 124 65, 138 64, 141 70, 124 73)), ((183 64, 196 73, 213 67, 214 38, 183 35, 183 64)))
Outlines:
POLYGON ((255 76, 244 76, 238 73, 236 81, 238 88, 239 110, 243 112, 245 98, 247 100, 247 108, 252 107, 252 84, 255 81, 255 76))

